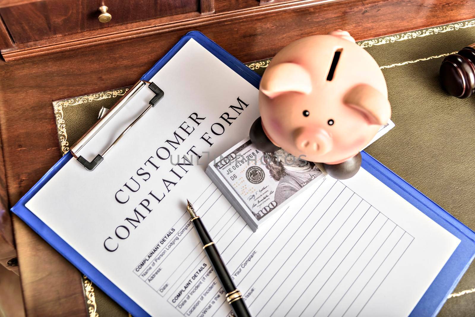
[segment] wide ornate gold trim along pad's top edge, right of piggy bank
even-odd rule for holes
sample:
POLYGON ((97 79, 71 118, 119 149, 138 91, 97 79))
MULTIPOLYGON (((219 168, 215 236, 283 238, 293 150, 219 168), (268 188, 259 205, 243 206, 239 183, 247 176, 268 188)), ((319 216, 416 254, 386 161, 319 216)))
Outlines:
POLYGON ((462 21, 462 22, 447 24, 447 25, 443 25, 443 26, 435 27, 435 28, 425 28, 422 30, 408 32, 408 33, 401 33, 401 34, 391 35, 387 37, 373 38, 366 41, 358 42, 357 44, 360 47, 372 47, 376 45, 394 43, 396 41, 404 41, 404 40, 416 38, 416 37, 427 37, 428 35, 435 35, 438 33, 456 31, 461 28, 473 28, 473 27, 475 27, 475 20, 462 21))

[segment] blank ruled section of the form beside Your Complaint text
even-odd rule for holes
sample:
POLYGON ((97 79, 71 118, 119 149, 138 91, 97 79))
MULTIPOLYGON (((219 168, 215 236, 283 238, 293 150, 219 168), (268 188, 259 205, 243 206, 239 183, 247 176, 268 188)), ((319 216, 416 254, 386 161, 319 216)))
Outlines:
POLYGON ((254 266, 261 273, 238 281, 261 288, 246 301, 257 316, 357 316, 413 240, 338 181, 286 213, 277 222, 292 217, 290 239, 279 234, 254 266))

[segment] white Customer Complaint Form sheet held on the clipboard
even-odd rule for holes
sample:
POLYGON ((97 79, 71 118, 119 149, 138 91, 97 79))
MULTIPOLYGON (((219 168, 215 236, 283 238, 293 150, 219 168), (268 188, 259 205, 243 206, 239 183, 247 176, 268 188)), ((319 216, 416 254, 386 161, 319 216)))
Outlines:
MULTIPOLYGON (((458 245, 456 237, 364 170, 347 181, 326 178, 252 233, 204 169, 247 135, 258 116, 257 89, 194 40, 152 81, 164 98, 93 172, 71 159, 27 203, 152 316, 230 313, 185 211, 187 198, 253 316, 408 315, 458 245), (239 115, 229 108, 239 106, 237 97, 248 104, 239 115), (206 119, 196 124, 188 118, 193 112, 206 119), (224 112, 237 119, 228 125, 220 118, 224 112), (216 122, 225 129, 221 135, 211 132, 216 122), (180 125, 195 130, 188 136, 180 125), (165 142, 175 140, 174 131, 186 140, 165 142), (200 139, 205 132, 212 146, 200 139), (210 154, 202 165, 182 166, 185 172, 157 158, 161 147, 175 155, 189 149, 210 154), (127 202, 117 202, 116 194, 127 202)), ((111 127, 126 126, 151 97, 140 91, 111 127)), ((94 157, 110 132, 99 132, 79 154, 94 157)))

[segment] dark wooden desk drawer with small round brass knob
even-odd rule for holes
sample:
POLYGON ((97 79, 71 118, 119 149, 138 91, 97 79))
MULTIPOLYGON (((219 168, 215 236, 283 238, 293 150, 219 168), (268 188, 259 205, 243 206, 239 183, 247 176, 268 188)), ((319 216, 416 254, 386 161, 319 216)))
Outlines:
POLYGON ((0 9, 15 43, 199 11, 199 0, 41 0, 0 9), (98 19, 107 6, 109 22, 98 19))

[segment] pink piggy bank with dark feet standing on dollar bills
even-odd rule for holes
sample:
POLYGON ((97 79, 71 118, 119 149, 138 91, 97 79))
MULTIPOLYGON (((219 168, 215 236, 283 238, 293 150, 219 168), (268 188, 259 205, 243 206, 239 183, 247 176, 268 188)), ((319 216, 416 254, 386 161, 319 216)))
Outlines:
POLYGON ((340 30, 284 47, 262 77, 259 110, 249 133, 257 149, 323 163, 338 179, 356 174, 360 150, 391 115, 378 64, 340 30))

